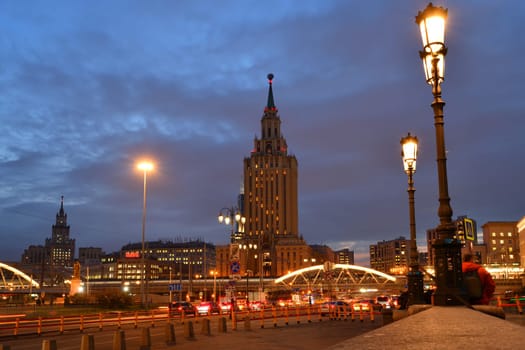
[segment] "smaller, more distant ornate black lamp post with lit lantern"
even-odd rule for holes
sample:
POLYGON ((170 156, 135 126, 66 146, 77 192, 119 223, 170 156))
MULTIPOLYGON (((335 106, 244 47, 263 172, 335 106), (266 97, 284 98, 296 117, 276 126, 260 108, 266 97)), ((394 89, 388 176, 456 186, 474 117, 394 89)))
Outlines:
POLYGON ((408 135, 401 139, 403 168, 408 175, 408 211, 410 219, 410 261, 408 271, 408 305, 423 304, 423 274, 419 271, 419 257, 416 241, 416 210, 414 192, 414 173, 417 161, 417 137, 408 135))

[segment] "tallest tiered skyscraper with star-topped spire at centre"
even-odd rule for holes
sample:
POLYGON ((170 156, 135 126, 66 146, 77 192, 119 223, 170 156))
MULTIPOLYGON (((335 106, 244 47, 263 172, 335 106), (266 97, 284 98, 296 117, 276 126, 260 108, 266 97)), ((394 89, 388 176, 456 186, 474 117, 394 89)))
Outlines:
POLYGON ((297 159, 288 154, 272 81, 273 74, 268 74, 261 137, 255 137, 250 156, 244 159, 242 208, 246 225, 240 242, 246 249, 243 265, 254 275, 262 269, 264 276, 286 274, 302 267, 303 260, 310 257, 310 248, 299 236, 297 159))

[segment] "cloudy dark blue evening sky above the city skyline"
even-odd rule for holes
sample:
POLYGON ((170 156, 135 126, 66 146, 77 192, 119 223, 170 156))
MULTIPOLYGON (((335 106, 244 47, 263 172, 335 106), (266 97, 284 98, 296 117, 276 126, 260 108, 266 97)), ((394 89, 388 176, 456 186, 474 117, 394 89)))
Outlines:
MULTIPOLYGON (((443 84, 455 215, 525 215, 520 184, 525 5, 449 8, 443 84)), ((65 196, 77 246, 228 241, 266 103, 299 161, 300 233, 356 250, 408 236, 399 140, 420 140, 417 231, 437 225, 435 141, 414 16, 426 2, 141 1, 0 5, 0 260, 43 244, 65 196)))

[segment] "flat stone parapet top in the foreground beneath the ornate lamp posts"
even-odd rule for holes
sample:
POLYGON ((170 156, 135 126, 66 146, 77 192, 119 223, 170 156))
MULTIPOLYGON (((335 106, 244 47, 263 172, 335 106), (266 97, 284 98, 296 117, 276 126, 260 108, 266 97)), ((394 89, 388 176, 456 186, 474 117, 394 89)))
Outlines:
POLYGON ((525 346, 525 329, 466 307, 434 306, 329 347, 354 349, 498 349, 525 346))

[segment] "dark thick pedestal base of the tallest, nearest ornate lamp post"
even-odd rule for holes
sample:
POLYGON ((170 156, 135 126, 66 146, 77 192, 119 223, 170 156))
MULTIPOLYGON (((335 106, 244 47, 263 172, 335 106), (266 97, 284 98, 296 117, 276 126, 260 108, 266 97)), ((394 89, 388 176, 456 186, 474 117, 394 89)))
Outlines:
POLYGON ((468 303, 462 290, 461 242, 453 238, 438 239, 432 247, 436 270, 434 305, 452 306, 468 303))

